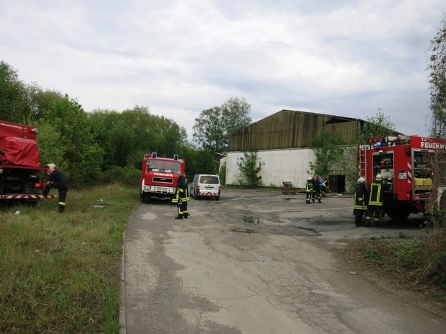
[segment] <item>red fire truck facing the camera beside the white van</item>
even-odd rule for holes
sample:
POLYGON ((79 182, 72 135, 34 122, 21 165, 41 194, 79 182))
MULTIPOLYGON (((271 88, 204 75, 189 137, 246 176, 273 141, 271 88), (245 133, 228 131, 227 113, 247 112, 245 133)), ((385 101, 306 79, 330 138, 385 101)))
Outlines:
POLYGON ((142 160, 141 201, 149 203, 152 197, 175 197, 178 172, 184 172, 184 160, 157 157, 156 153, 145 154, 142 160))

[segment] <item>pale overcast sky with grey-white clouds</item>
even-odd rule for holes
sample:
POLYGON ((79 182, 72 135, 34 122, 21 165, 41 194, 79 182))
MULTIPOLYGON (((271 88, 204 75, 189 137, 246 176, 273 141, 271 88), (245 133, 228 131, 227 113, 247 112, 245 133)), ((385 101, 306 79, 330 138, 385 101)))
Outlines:
POLYGON ((0 60, 86 112, 135 105, 193 134, 231 97, 427 135, 445 0, 0 0, 0 60))

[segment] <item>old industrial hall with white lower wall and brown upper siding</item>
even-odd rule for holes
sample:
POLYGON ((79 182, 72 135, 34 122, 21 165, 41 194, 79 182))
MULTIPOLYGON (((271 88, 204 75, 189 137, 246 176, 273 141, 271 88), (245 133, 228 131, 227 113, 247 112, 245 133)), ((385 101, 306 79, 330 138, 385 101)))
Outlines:
MULTIPOLYGON (((347 141, 355 141, 365 121, 349 117, 315 114, 293 110, 281 110, 256 121, 229 137, 226 162, 226 184, 239 184, 239 163, 244 150, 256 150, 261 165, 263 186, 282 186, 291 181, 297 188, 304 188, 309 171, 309 162, 314 161, 314 152, 309 148, 314 136, 321 131, 341 134, 347 141)), ((329 175, 331 191, 345 191, 345 175, 333 171, 329 175)))

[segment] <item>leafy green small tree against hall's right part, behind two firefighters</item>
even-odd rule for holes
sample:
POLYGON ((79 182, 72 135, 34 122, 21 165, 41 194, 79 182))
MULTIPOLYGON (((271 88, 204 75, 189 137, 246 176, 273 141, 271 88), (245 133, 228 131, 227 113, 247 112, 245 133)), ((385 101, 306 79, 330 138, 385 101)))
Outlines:
POLYGON ((343 139, 341 135, 331 135, 328 131, 321 131, 314 136, 310 148, 314 152, 316 160, 309 162, 309 167, 316 174, 326 179, 328 172, 343 157, 343 139))

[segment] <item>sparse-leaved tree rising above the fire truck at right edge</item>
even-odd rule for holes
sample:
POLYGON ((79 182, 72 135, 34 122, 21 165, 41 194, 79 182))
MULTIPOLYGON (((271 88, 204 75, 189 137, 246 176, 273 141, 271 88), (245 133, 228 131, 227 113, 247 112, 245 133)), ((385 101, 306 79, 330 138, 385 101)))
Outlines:
POLYGON ((430 83, 430 110, 432 112, 431 135, 446 137, 446 17, 442 27, 430 41, 431 52, 428 70, 430 83))

